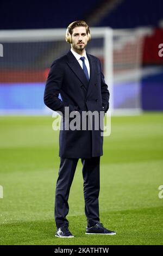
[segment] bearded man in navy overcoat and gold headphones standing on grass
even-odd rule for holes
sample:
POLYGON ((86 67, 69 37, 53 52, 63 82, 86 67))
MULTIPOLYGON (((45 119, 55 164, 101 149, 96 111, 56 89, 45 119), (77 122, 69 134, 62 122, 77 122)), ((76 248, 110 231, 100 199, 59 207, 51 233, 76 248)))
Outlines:
POLYGON ((91 39, 89 26, 84 21, 74 21, 68 26, 65 38, 71 44, 71 50, 52 63, 44 94, 46 106, 62 115, 59 135, 60 167, 55 191, 55 236, 74 237, 68 229, 66 215, 69 210, 68 196, 79 159, 83 164, 87 218, 85 234, 114 235, 115 231, 104 228, 99 221, 99 169, 100 157, 103 155, 103 127, 100 120, 89 115, 96 112, 99 119, 102 114, 104 117, 109 109, 109 90, 104 81, 100 60, 85 51, 87 42, 91 39), (83 114, 85 112, 86 115, 83 114), (76 129, 70 127, 74 114, 78 117, 76 129))

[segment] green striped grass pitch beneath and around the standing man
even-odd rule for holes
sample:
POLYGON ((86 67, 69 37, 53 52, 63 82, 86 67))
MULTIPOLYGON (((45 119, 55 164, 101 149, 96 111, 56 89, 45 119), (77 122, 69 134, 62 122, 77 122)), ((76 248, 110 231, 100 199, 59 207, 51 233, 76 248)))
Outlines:
POLYGON ((70 191, 73 239, 54 236, 59 132, 52 117, 0 118, 1 245, 163 245, 163 114, 112 117, 104 137, 99 210, 115 236, 85 235, 82 163, 70 191))

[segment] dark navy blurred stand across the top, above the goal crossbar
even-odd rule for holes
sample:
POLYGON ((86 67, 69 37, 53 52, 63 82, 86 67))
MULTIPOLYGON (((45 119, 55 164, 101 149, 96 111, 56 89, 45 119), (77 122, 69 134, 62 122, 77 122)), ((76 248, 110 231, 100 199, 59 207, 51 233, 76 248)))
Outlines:
POLYGON ((65 28, 74 20, 90 26, 159 26, 162 0, 1 1, 0 29, 65 28))

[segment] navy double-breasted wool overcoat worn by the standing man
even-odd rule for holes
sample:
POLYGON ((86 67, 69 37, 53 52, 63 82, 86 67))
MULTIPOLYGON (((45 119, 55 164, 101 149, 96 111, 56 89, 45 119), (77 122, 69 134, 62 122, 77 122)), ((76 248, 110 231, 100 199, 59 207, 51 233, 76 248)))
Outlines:
MULTIPOLYGON (((48 74, 44 102, 53 111, 60 111, 64 118, 65 107, 69 111, 98 111, 106 113, 109 108, 109 90, 105 83, 98 58, 86 54, 90 64, 90 80, 84 74, 77 59, 69 51, 55 60, 48 74), (59 99, 59 93, 61 100, 59 99), (102 112, 103 111, 103 112, 102 112)), ((71 121, 71 118, 70 120, 71 121)), ((100 126, 100 125, 99 125, 100 126)), ((60 130, 59 156, 86 159, 103 155, 102 129, 60 130)))

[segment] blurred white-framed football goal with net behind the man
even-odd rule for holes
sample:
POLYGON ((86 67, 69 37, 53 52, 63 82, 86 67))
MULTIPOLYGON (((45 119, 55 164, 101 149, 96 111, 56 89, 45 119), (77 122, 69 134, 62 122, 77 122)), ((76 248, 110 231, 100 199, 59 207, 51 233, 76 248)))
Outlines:
MULTIPOLYGON (((101 60, 112 113, 141 110, 140 70, 145 34, 139 29, 91 28, 86 51, 101 60)), ((0 113, 52 113, 43 103, 43 92, 53 60, 70 50, 65 29, 1 31, 0 43, 0 113)))

